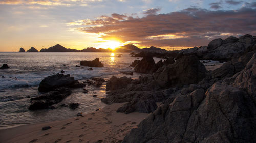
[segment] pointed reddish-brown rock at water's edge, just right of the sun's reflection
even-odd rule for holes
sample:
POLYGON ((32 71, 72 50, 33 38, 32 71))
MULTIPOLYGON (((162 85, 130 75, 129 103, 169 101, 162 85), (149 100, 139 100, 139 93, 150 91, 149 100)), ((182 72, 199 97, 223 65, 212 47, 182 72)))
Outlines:
POLYGON ((134 67, 134 71, 139 73, 155 72, 156 64, 152 56, 143 57, 143 59, 134 67))

